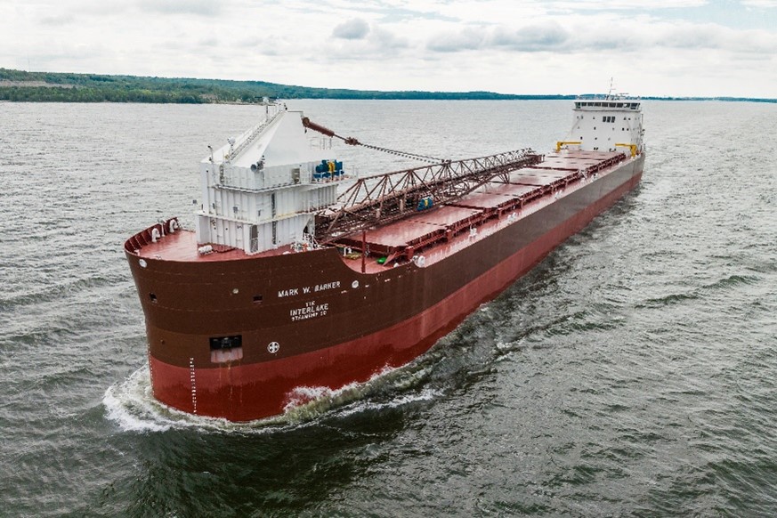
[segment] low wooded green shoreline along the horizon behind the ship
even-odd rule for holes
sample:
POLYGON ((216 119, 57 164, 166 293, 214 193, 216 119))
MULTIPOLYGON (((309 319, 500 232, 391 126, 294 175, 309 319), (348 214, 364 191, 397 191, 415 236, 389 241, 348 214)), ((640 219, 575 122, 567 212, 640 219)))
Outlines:
MULTIPOLYGON (((517 95, 493 92, 383 92, 344 88, 312 88, 264 81, 230 81, 187 77, 105 76, 59 72, 27 72, 0 68, 0 101, 20 102, 157 102, 180 104, 251 104, 277 99, 384 100, 555 100, 577 95, 517 95)), ((741 97, 642 97, 661 101, 750 101, 777 99, 741 97)))

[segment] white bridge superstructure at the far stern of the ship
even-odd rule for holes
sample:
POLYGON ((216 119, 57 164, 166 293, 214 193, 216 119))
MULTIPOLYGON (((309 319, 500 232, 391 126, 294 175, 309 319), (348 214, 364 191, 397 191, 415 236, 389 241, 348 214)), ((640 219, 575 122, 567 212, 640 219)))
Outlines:
POLYGON ((557 148, 635 156, 643 150, 643 133, 640 101, 619 95, 577 99, 570 133, 557 148))

